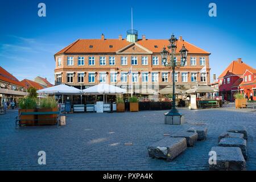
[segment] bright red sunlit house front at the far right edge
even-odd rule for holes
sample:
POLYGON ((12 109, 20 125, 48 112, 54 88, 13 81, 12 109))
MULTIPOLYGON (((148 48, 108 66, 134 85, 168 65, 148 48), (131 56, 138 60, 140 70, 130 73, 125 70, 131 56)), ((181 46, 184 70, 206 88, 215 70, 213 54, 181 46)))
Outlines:
POLYGON ((243 79, 240 86, 240 90, 247 98, 253 97, 256 100, 256 69, 249 71, 246 69, 243 73, 243 79))

